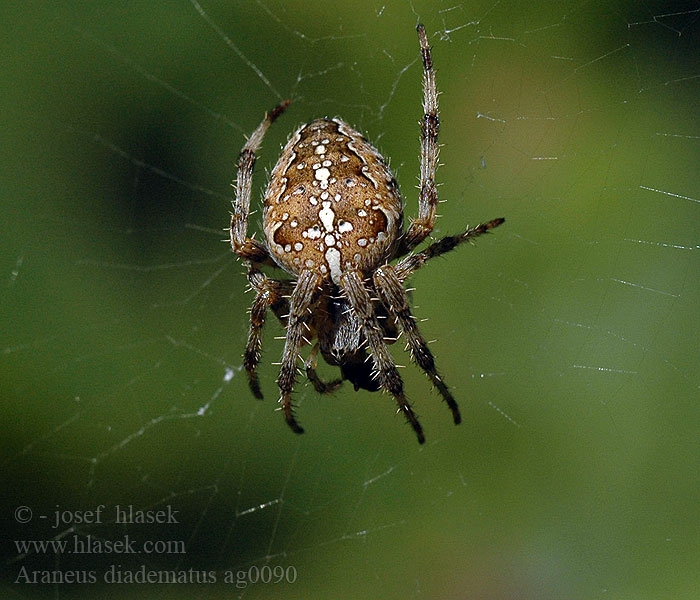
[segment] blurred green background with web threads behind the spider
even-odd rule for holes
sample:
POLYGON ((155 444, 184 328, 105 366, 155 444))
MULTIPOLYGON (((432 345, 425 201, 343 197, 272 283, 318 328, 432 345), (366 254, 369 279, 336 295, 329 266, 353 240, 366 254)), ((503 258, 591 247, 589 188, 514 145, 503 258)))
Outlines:
POLYGON ((697 598, 699 17, 667 2, 5 6, 2 596, 697 598), (424 447, 390 398, 301 380, 294 436, 274 410, 279 326, 264 401, 240 373, 251 296, 221 241, 235 160, 290 97, 256 198, 289 132, 339 115, 391 157, 415 214, 418 20, 442 92, 436 234, 507 218, 413 280, 464 423, 395 348, 424 447), (99 525, 52 525, 57 507, 101 504, 99 525), (116 524, 117 504, 178 523, 116 524), (88 535, 186 551, 15 544, 88 535), (108 585, 112 565, 218 583, 108 585), (223 581, 265 565, 296 581, 223 581), (97 583, 20 576, 38 570, 97 583))

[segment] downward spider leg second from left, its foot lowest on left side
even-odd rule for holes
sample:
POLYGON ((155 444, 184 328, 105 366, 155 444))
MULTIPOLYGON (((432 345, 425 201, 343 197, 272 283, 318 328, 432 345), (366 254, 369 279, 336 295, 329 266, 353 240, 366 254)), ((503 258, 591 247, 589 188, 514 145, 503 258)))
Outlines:
POLYGON ((313 271, 302 271, 292 292, 292 301, 289 306, 289 320, 287 321, 287 337, 282 354, 282 367, 277 384, 280 388, 279 402, 282 405, 284 418, 294 433, 304 433, 302 427, 294 418, 292 407, 292 388, 296 378, 297 360, 299 348, 304 340, 304 332, 311 319, 311 308, 321 289, 323 278, 313 271))

